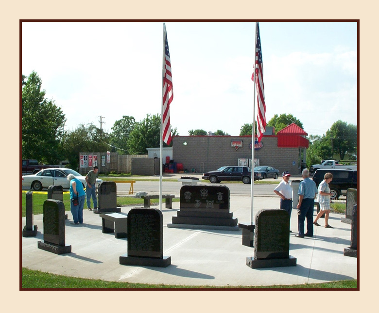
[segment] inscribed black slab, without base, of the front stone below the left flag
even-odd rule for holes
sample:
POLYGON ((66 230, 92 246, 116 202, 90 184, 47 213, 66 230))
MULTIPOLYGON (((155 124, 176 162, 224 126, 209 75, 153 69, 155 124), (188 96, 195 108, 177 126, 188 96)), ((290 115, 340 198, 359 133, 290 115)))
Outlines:
POLYGON ((128 257, 163 258, 163 215, 157 209, 128 213, 128 257))

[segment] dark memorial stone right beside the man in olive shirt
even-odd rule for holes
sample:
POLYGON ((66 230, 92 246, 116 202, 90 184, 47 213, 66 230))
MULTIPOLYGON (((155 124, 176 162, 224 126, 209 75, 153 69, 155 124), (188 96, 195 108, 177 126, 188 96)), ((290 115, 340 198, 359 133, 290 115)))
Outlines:
POLYGON ((121 212, 117 207, 117 187, 115 182, 103 181, 99 184, 98 210, 93 213, 121 212))

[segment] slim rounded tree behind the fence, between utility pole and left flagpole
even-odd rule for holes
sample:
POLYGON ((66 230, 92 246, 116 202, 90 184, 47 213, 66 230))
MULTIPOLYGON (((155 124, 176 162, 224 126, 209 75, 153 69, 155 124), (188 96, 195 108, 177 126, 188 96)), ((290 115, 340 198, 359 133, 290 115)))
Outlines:
POLYGON ((133 116, 123 115, 121 120, 118 120, 113 125, 111 135, 111 145, 116 147, 116 150, 121 150, 123 154, 128 154, 127 142, 132 132, 136 120, 133 116))

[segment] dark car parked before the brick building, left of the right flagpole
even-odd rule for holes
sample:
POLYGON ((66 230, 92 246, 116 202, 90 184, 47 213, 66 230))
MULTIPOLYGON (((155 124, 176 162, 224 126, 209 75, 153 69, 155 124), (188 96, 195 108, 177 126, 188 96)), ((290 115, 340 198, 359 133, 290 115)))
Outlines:
MULTIPOLYGON (((247 166, 223 166, 216 171, 204 173, 201 178, 209 180, 212 184, 222 181, 237 181, 251 184, 251 170, 247 166)), ((254 172, 254 180, 258 179, 261 179, 260 174, 254 172)))

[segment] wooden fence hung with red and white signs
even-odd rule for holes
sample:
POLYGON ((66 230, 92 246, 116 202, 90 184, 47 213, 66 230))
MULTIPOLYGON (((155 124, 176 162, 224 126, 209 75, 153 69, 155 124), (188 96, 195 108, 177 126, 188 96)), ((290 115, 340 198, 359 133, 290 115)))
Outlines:
POLYGON ((148 157, 148 155, 119 155, 111 152, 110 162, 106 163, 106 152, 80 152, 79 172, 82 175, 87 174, 97 165, 100 173, 130 173, 132 172, 132 157, 148 157))

